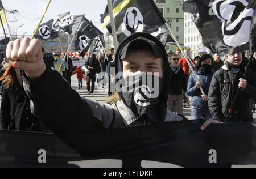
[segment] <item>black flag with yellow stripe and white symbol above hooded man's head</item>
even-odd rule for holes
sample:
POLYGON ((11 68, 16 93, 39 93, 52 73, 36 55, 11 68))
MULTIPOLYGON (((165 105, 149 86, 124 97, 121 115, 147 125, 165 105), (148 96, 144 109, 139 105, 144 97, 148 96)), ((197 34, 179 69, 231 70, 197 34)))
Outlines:
MULTIPOLYGON (((163 45, 166 44, 168 29, 166 20, 156 7, 154 1, 148 0, 114 0, 112 1, 115 14, 115 27, 117 39, 121 42, 134 32, 145 32, 158 38, 163 45)), ((112 33, 108 7, 104 15, 101 15, 102 28, 107 27, 112 33)))

